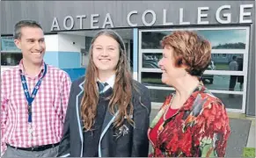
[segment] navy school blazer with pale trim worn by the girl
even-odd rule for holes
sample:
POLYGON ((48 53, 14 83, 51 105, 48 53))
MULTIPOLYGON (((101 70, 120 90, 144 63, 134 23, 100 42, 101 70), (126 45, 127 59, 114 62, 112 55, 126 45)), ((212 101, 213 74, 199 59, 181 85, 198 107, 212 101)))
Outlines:
MULTIPOLYGON (((113 120, 118 110, 112 115, 106 111, 104 123, 99 139, 99 157, 147 157, 149 153, 149 140, 147 131, 150 126, 150 91, 142 83, 134 81, 139 94, 133 90, 134 112, 132 119, 134 126, 125 120, 122 134, 116 138, 114 135, 113 120)), ((83 157, 84 138, 83 122, 81 119, 80 104, 84 92, 84 77, 77 79, 71 85, 69 105, 63 126, 62 140, 60 142, 58 157, 83 157)))

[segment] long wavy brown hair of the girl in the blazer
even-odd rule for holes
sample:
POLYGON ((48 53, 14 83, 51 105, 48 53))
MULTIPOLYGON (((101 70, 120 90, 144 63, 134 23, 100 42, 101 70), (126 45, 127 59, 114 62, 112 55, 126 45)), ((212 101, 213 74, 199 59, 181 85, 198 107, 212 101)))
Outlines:
POLYGON ((133 120, 129 117, 132 115, 134 110, 134 106, 132 104, 132 88, 134 85, 127 59, 126 48, 123 40, 116 32, 106 29, 99 31, 91 40, 90 60, 86 69, 84 96, 81 102, 81 114, 84 122, 84 129, 86 131, 92 130, 91 126, 93 126, 95 122, 97 105, 99 102, 99 91, 96 83, 98 69, 92 61, 92 47, 95 39, 97 39, 100 35, 109 36, 119 43, 120 59, 115 68, 113 94, 110 97, 110 102, 108 104, 108 110, 112 114, 114 114, 116 108, 119 110, 113 125, 115 127, 121 126, 125 117, 128 118, 128 123, 131 125, 134 124, 133 120))

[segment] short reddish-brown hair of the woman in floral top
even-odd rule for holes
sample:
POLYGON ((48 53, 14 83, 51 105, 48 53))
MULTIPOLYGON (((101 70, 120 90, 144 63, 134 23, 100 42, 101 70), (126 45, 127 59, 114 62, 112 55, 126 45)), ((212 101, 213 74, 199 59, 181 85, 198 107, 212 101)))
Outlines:
POLYGON ((172 47, 175 66, 186 66, 190 75, 201 76, 211 61, 210 43, 196 32, 172 32, 161 40, 161 46, 172 47))

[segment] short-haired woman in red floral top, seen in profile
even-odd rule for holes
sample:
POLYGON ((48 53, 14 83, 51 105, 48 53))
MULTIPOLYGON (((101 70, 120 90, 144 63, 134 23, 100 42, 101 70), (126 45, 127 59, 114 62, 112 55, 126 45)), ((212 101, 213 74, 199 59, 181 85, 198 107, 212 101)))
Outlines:
POLYGON ((229 118, 222 101, 201 83, 211 60, 209 42, 194 32, 178 31, 166 36, 161 45, 162 82, 175 92, 166 97, 150 125, 150 156, 223 157, 229 118))

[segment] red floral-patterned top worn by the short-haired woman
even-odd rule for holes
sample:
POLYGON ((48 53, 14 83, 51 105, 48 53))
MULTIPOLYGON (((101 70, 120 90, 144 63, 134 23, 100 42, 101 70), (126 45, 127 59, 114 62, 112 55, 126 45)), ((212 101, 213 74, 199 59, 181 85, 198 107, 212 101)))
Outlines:
MULTIPOLYGON (((165 113, 172 95, 150 125, 150 131, 165 113)), ((171 118, 159 126, 150 157, 223 157, 230 136, 229 118, 220 99, 199 86, 171 118)))

